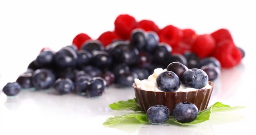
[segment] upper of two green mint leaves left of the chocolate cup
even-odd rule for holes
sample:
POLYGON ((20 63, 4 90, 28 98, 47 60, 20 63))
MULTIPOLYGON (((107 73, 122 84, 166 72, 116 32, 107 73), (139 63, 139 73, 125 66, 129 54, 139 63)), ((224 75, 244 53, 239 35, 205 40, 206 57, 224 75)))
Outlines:
POLYGON ((121 100, 108 105, 112 110, 116 111, 141 111, 139 105, 136 102, 136 98, 129 100, 121 100))

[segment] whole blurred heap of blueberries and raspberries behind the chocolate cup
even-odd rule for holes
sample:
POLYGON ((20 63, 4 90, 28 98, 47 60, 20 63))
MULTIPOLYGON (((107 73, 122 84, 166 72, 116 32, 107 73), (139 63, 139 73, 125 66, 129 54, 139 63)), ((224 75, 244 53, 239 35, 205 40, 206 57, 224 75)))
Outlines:
POLYGON ((135 78, 146 79, 155 68, 172 62, 201 68, 213 81, 221 66, 234 67, 243 57, 244 51, 235 46, 226 29, 197 35, 191 29, 159 28, 150 20, 137 22, 130 15, 119 15, 115 30, 102 33, 97 40, 81 33, 72 45, 57 52, 43 48, 28 70, 3 91, 14 96, 21 88, 54 87, 57 94, 100 96, 105 87, 132 86, 135 78))

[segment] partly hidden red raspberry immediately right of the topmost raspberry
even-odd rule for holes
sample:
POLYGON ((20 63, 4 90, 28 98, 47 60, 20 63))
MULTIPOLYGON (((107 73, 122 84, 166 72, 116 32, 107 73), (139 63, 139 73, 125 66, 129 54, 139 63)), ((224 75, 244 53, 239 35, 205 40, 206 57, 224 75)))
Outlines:
POLYGON ((150 20, 141 20, 138 23, 138 27, 137 28, 142 28, 145 31, 155 31, 156 33, 159 32, 159 28, 158 26, 155 24, 155 22, 150 21, 150 20))

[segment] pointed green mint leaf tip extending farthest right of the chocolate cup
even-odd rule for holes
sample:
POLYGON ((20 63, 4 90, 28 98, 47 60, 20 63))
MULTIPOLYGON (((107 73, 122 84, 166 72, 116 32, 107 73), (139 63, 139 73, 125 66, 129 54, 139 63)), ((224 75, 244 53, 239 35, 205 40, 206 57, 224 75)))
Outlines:
POLYGON ((229 105, 224 105, 221 102, 216 102, 211 107, 212 107, 212 112, 233 111, 233 110, 245 108, 245 107, 241 107, 241 106, 230 107, 229 105))

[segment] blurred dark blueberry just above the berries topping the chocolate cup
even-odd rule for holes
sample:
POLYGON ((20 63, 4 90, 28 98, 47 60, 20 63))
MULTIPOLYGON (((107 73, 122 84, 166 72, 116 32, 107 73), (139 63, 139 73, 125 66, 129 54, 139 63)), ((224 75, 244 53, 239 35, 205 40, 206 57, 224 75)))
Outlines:
POLYGON ((172 48, 166 43, 159 43, 153 50, 153 62, 156 64, 167 66, 171 57, 172 48))

